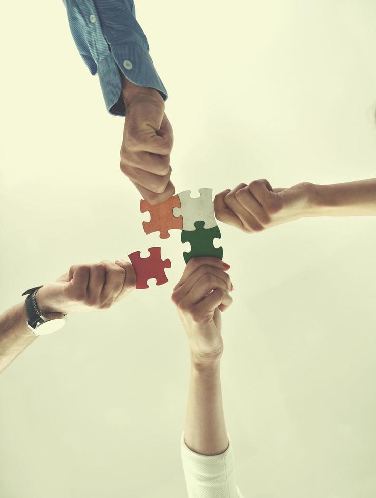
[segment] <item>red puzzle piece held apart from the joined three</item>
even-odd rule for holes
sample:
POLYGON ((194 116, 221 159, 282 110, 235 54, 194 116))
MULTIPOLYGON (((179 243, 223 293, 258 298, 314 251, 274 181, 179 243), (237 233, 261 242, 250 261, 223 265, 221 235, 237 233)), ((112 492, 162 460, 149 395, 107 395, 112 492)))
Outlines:
POLYGON ((147 281, 149 278, 156 278, 157 285, 168 282, 164 270, 171 268, 171 261, 169 259, 162 260, 160 247, 150 247, 149 253, 150 256, 147 258, 141 258, 140 251, 128 254, 136 273, 136 289, 148 289, 147 281))

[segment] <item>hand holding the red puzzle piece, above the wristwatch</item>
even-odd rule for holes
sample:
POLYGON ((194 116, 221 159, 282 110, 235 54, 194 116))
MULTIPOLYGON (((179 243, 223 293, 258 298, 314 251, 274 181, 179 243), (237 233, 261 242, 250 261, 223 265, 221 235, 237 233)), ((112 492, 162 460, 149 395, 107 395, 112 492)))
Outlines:
POLYGON ((133 266, 126 261, 73 265, 55 282, 41 287, 35 299, 42 315, 107 309, 136 287, 133 266))

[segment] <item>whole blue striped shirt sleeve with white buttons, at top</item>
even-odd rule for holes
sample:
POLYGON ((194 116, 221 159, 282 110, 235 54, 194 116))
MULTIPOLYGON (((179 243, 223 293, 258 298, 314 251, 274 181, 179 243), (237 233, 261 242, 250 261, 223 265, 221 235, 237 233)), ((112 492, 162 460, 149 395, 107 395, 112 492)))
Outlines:
POLYGON ((168 94, 149 54, 149 43, 136 20, 133 0, 63 0, 69 27, 84 63, 98 73, 107 111, 125 116, 120 71, 138 86, 168 94))

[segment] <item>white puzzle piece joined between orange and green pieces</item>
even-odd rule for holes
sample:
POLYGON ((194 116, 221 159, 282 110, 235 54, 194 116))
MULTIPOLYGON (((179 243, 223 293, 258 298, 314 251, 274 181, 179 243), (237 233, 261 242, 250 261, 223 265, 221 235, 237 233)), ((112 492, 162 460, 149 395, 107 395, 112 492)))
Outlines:
POLYGON ((173 208, 173 215, 183 216, 183 230, 193 231, 197 220, 203 220, 205 229, 217 226, 212 191, 213 189, 198 189, 200 196, 193 198, 190 196, 190 190, 178 194, 181 207, 173 208))

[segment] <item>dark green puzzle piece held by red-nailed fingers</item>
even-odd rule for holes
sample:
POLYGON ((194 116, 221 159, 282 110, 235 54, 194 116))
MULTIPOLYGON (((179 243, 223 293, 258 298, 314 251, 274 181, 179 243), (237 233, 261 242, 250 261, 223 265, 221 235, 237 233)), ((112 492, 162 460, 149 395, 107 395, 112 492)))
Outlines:
POLYGON ((214 247, 213 239, 220 239, 221 232, 219 227, 204 228, 204 222, 198 221, 194 223, 196 230, 182 230, 181 241, 189 242, 191 244, 190 253, 184 252, 184 261, 188 261, 196 256, 214 256, 215 258, 222 259, 223 248, 214 247))

